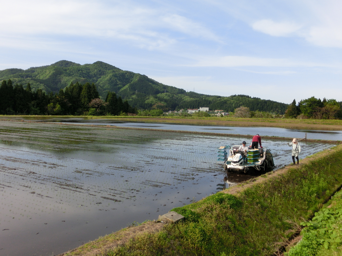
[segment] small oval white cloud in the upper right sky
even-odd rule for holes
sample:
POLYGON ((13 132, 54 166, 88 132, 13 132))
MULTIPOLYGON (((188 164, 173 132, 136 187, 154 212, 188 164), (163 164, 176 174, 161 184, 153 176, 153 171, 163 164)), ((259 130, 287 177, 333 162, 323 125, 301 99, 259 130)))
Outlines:
POLYGON ((292 22, 274 22, 270 19, 262 19, 254 22, 252 28, 275 37, 287 37, 298 31, 301 26, 292 22))

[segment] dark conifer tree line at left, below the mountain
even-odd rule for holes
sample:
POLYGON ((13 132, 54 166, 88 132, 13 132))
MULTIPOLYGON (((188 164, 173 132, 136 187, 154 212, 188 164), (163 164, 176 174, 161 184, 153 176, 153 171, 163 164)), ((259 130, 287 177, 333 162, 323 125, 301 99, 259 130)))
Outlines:
POLYGON ((71 83, 56 94, 45 94, 42 89, 31 90, 28 83, 12 85, 3 80, 0 86, 0 114, 14 115, 127 115, 137 113, 135 108, 114 92, 100 99, 94 83, 71 83))

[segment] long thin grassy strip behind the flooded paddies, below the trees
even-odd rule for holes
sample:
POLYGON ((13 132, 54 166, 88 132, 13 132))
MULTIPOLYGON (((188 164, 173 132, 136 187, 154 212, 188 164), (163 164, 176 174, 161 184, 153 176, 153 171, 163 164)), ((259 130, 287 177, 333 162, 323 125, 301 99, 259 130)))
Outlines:
POLYGON ((342 120, 337 119, 287 119, 287 118, 237 118, 237 117, 141 117, 141 116, 3 116, 23 119, 48 118, 103 118, 130 122, 171 123, 188 125, 219 125, 237 127, 279 127, 302 130, 342 130, 342 120))

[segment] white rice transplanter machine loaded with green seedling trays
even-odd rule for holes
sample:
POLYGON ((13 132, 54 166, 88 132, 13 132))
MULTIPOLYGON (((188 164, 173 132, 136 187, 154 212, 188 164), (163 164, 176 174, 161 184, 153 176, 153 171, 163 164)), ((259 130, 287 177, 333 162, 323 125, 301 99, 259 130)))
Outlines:
POLYGON ((224 161, 225 171, 247 172, 250 168, 258 171, 269 171, 274 167, 271 150, 266 148, 248 149, 247 152, 238 151, 239 146, 222 146, 219 148, 219 161, 224 161), (229 150, 229 155, 228 151, 229 150), (228 156, 227 156, 228 155, 228 156))

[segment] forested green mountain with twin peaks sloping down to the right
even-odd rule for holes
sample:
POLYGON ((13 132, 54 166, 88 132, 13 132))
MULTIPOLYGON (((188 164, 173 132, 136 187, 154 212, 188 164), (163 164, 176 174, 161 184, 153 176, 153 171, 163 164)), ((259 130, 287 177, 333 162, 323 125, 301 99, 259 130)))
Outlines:
POLYGON ((0 81, 11 79, 13 84, 30 83, 32 91, 42 89, 46 93, 58 93, 70 83, 94 83, 101 98, 108 91, 115 92, 123 100, 138 109, 195 109, 209 107, 232 112, 240 106, 283 114, 288 104, 271 100, 252 98, 246 95, 229 97, 212 96, 186 92, 184 89, 161 84, 146 75, 124 71, 102 61, 80 65, 61 60, 49 66, 0 71, 0 81))

